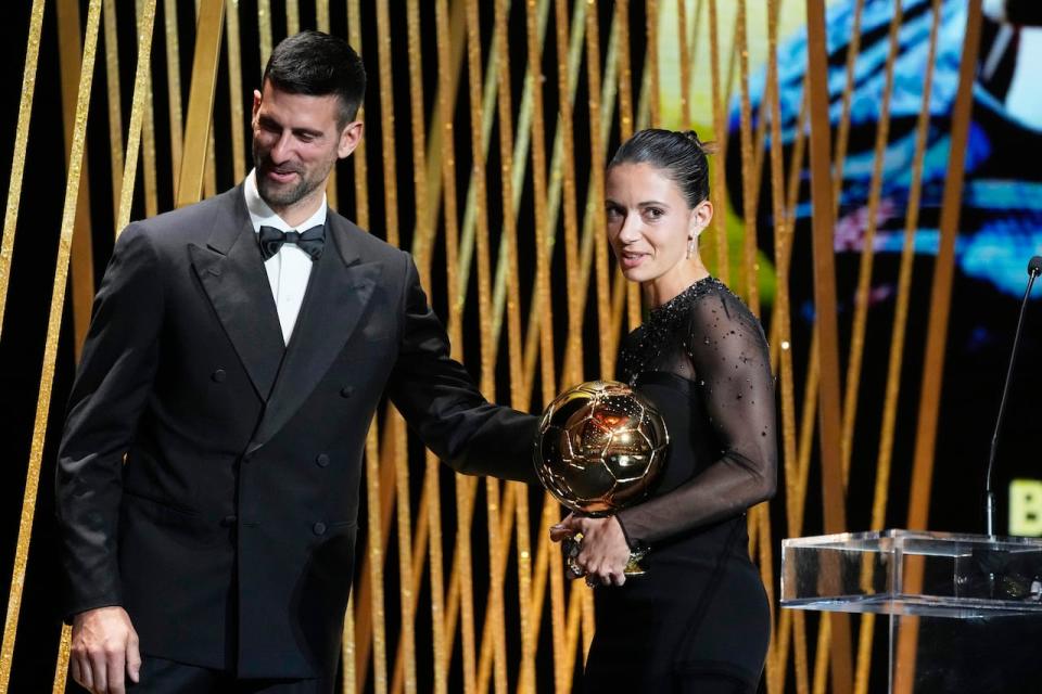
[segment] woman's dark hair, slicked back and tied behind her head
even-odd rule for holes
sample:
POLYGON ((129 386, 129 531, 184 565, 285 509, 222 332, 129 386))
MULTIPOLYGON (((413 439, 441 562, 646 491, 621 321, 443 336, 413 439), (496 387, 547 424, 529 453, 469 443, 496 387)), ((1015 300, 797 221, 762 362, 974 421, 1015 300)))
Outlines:
POLYGON ((698 139, 694 130, 677 132, 649 128, 639 130, 622 143, 612 157, 610 169, 620 164, 649 164, 663 171, 694 208, 709 198, 709 160, 711 143, 698 139))

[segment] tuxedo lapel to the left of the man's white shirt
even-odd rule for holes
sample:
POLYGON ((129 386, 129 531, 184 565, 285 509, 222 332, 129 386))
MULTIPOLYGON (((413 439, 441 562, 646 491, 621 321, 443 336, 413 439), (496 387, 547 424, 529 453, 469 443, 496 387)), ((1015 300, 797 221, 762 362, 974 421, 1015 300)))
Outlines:
POLYGON ((189 254, 257 396, 267 400, 284 354, 282 330, 242 187, 225 195, 206 247, 190 244, 189 254))

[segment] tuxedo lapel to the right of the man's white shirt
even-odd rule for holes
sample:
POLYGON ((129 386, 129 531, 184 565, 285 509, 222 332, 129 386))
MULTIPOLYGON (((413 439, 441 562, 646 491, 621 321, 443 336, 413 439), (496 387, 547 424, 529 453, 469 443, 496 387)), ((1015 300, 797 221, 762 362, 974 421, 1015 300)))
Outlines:
POLYGON ((383 269, 361 262, 343 222, 326 222, 326 252, 315 262, 285 359, 250 451, 281 429, 321 382, 358 325, 383 269))

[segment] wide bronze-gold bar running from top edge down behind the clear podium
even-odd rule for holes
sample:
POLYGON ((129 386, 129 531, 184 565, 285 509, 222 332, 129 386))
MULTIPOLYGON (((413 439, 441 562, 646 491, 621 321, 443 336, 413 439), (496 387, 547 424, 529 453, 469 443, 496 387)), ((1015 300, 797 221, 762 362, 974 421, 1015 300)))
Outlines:
MULTIPOLYGON (((821 454, 825 531, 847 529, 840 451, 839 336, 836 325, 836 270, 833 259, 834 206, 829 160, 827 49, 824 0, 808 0, 808 89, 811 128, 814 308, 821 364, 821 454)), ((831 683, 836 694, 851 691, 850 620, 831 614, 831 683)))

